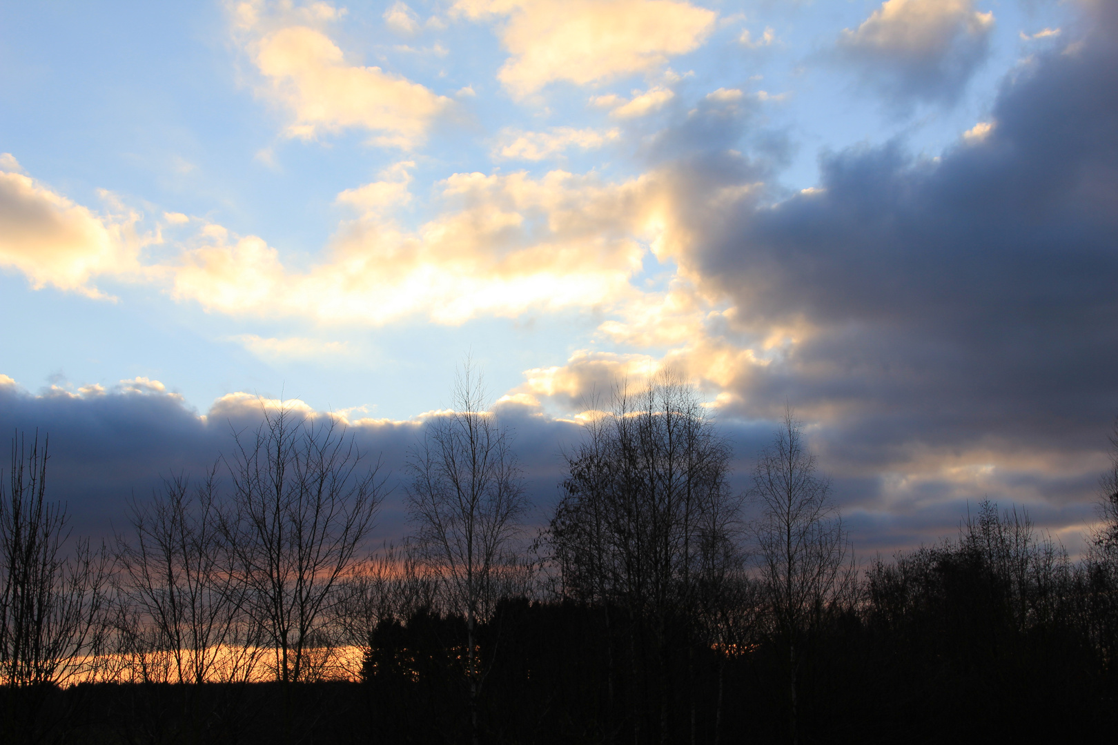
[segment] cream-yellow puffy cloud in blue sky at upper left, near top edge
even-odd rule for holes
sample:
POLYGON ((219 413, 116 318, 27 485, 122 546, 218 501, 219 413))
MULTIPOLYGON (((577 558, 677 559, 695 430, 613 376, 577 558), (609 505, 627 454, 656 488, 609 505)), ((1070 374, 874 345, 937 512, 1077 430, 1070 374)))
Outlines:
POLYGON ((319 28, 339 11, 300 10, 272 18, 238 7, 235 16, 238 38, 264 78, 258 93, 291 114, 287 136, 361 128, 375 133, 379 145, 410 149, 423 142, 453 101, 380 67, 347 63, 319 28))

